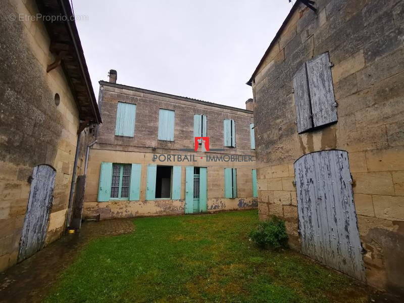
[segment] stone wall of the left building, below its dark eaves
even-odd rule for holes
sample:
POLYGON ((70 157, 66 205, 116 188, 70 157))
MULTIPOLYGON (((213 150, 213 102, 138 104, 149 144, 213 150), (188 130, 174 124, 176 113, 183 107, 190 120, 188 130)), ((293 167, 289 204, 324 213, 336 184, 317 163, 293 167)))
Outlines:
POLYGON ((37 13, 32 0, 0 4, 0 271, 17 260, 33 167, 48 164, 57 170, 46 243, 62 234, 69 200, 78 109, 62 68, 46 73, 55 57, 43 23, 9 19, 37 13))

